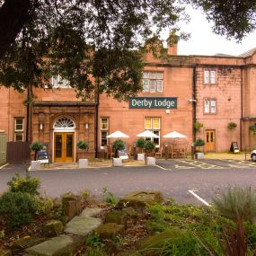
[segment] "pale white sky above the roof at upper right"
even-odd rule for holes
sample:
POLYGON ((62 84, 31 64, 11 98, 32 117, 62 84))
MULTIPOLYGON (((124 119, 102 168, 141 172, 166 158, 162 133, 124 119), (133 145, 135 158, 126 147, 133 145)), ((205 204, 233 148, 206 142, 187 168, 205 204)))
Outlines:
POLYGON ((190 23, 182 24, 181 29, 190 32, 190 39, 179 41, 179 55, 215 55, 223 53, 237 56, 250 49, 256 48, 256 30, 249 34, 241 43, 235 40, 226 40, 225 37, 214 34, 211 24, 207 22, 204 14, 199 10, 192 10, 190 13, 190 23))

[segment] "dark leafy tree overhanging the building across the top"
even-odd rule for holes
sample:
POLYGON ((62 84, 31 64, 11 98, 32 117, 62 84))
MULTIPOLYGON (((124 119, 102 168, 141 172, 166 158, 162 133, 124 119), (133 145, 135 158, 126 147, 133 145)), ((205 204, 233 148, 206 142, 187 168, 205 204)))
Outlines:
POLYGON ((240 40, 255 28, 254 1, 224 2, 0 0, 0 84, 50 88, 59 74, 82 99, 96 89, 128 100, 142 90, 145 42, 164 30, 176 31, 172 43, 186 38, 177 26, 188 19, 184 4, 202 7, 216 33, 240 40))

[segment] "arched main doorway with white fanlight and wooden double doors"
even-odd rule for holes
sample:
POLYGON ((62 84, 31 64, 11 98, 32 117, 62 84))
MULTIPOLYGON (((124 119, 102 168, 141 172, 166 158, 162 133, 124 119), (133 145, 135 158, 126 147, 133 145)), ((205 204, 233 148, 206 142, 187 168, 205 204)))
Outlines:
POLYGON ((57 119, 53 125, 54 162, 75 161, 75 122, 66 117, 57 119))

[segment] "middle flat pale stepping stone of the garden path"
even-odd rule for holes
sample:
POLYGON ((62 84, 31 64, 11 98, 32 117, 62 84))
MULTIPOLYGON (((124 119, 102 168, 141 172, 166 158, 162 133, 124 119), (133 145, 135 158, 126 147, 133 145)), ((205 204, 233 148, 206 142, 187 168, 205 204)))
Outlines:
POLYGON ((66 224, 64 230, 67 234, 86 235, 102 224, 102 220, 90 216, 75 216, 66 224))

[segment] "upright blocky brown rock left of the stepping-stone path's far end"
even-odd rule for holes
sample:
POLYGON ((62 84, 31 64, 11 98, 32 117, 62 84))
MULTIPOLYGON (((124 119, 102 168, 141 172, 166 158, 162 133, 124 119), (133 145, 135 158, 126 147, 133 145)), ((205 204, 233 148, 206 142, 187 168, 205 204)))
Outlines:
MULTIPOLYGON (((62 198, 62 207, 64 209, 64 213, 66 216, 72 216, 74 217, 75 215, 80 215, 82 212, 82 198, 80 196, 76 195, 68 195, 66 197, 62 198), (72 203, 68 203, 72 202, 72 203), (75 209, 74 209, 75 205, 75 209), (74 215, 75 212, 75 215, 74 215)), ((71 218, 72 218, 71 217, 71 218)), ((69 219, 71 219, 69 218, 69 219)))

